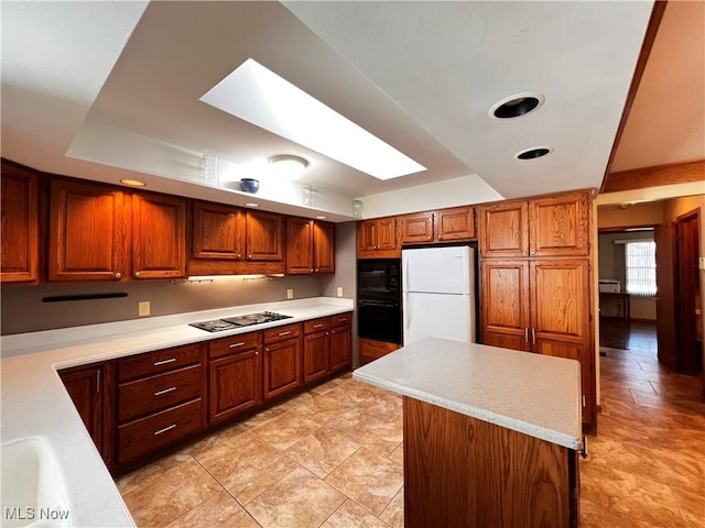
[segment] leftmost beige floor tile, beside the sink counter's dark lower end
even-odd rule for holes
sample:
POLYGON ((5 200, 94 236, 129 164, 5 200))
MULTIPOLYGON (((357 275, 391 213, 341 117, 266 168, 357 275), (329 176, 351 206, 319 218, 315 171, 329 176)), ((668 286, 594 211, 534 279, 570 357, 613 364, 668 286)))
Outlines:
POLYGON ((122 495, 139 527, 162 527, 220 491, 218 483, 196 460, 165 470, 160 479, 122 495))

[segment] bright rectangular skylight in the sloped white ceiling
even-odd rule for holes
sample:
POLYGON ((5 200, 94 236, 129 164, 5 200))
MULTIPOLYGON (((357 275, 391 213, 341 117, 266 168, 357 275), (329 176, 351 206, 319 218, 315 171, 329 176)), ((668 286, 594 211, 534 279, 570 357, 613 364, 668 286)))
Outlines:
POLYGON ((200 100, 379 179, 426 168, 252 58, 200 100))

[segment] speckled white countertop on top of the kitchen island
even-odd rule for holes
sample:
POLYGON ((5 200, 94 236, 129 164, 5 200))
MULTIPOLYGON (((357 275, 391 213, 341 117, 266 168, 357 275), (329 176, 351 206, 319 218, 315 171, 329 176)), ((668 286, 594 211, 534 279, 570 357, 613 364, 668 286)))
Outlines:
POLYGON ((565 448, 583 448, 581 365, 574 360, 424 338, 352 376, 565 448))

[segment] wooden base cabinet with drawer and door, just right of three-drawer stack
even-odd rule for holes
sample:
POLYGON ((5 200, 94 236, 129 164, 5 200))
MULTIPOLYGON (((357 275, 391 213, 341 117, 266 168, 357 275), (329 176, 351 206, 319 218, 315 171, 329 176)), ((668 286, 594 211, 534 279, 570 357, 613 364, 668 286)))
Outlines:
POLYGON ((218 424, 262 403, 262 336, 251 332, 208 344, 208 420, 218 424))

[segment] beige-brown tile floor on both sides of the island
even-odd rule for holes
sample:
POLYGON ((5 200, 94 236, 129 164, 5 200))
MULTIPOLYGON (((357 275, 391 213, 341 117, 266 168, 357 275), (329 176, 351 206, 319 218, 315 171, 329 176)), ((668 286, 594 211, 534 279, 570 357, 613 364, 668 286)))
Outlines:
MULTIPOLYGON (((646 340, 644 342, 648 342, 646 340)), ((701 382, 605 349, 582 526, 705 527, 701 382)), ((401 400, 341 376, 118 481, 140 527, 403 526, 401 400)))

